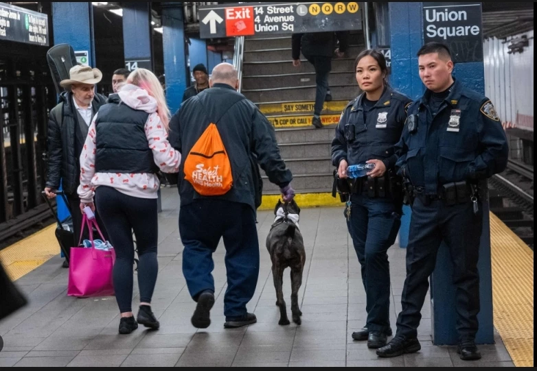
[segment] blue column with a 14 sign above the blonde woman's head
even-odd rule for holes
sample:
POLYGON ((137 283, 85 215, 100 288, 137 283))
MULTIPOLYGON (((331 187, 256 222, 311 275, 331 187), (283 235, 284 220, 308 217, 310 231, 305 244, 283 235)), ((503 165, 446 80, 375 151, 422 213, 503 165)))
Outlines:
POLYGON ((136 67, 152 70, 151 4, 123 3, 123 6, 123 44, 126 66, 127 68, 131 66, 131 70, 136 67))

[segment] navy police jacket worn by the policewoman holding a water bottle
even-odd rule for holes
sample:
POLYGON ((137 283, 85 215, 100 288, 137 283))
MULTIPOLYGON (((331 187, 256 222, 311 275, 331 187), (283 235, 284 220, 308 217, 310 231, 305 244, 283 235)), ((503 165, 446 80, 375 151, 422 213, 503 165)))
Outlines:
POLYGON ((377 104, 367 112, 364 122, 364 94, 351 101, 343 113, 332 141, 332 164, 339 167, 341 160, 358 165, 369 160, 382 160, 386 169, 393 169, 397 156, 395 145, 401 138, 408 97, 387 87, 377 104))

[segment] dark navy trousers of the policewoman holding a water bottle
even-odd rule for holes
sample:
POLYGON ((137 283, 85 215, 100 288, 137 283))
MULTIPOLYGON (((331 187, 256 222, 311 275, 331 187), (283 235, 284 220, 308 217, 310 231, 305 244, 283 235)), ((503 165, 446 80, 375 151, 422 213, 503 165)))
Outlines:
POLYGON ((387 198, 369 198, 353 194, 350 221, 347 220, 354 250, 362 267, 362 281, 367 296, 369 331, 387 332, 389 323, 388 249, 396 241, 401 216, 387 198))

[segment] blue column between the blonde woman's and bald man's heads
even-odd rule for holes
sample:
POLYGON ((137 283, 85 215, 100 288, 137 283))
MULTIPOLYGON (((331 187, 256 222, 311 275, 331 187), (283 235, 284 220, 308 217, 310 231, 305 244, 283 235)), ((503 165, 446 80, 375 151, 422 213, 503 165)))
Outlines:
POLYGON ((162 25, 166 99, 173 114, 187 87, 183 3, 162 3, 162 25))

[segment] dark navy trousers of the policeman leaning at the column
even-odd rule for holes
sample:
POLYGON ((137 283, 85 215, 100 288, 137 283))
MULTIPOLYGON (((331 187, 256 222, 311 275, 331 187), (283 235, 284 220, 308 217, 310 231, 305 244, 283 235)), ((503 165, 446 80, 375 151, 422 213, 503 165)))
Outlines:
MULTIPOLYGON (((435 201, 426 206, 416 198, 412 207, 409 244, 407 246, 407 279, 404 281, 402 312, 397 320, 397 335, 418 336, 421 310, 429 276, 435 269, 438 249, 444 241, 453 263, 453 285, 457 311, 457 332, 461 340, 474 340, 479 322, 479 243, 483 229, 483 207, 474 213, 472 202, 446 206, 435 201)), ((450 262, 441 262, 449 264, 450 262)))

